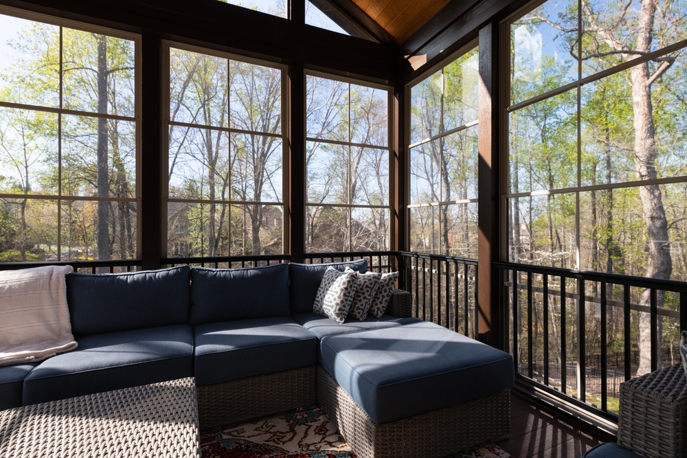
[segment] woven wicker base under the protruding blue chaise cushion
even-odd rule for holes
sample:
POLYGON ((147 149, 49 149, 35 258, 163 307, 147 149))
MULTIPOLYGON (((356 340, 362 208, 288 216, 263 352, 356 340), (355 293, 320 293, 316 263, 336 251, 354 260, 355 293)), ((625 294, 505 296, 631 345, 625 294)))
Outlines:
POLYGON ((359 458, 444 457, 510 431, 510 390, 376 424, 320 367, 317 400, 359 458))

